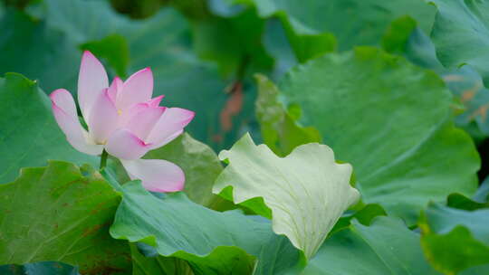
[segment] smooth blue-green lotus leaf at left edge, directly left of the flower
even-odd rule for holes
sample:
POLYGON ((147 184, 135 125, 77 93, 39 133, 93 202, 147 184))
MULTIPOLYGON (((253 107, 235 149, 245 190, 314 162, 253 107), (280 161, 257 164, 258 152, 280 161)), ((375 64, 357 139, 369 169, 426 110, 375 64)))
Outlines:
POLYGON ((17 73, 0 78, 0 184, 14 181, 25 166, 45 166, 48 159, 96 164, 78 152, 56 124, 49 98, 17 73))

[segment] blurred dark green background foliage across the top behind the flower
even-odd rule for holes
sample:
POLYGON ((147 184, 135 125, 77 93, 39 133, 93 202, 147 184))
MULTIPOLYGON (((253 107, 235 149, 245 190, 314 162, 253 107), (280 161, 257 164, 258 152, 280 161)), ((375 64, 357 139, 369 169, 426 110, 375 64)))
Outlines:
MULTIPOLYGON (((196 110, 188 131, 215 150, 247 131, 261 138, 255 73, 279 81, 298 63, 372 45, 436 71, 455 95, 457 126, 474 137, 484 160, 489 155, 489 90, 470 66, 446 69, 438 61, 429 37, 436 7, 424 0, 3 2, 0 73, 23 73, 46 93, 63 87, 76 94, 82 50, 99 56, 112 77, 149 66, 155 94, 165 94, 168 106, 196 110)), ((298 106, 289 108, 300 115, 298 106)))

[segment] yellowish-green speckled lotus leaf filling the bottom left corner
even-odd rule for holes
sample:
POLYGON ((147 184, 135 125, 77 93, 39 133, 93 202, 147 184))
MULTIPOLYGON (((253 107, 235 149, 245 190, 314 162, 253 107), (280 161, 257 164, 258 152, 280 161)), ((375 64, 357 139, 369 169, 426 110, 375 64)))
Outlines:
POLYGON ((0 185, 0 265, 62 261, 82 274, 127 274, 129 246, 110 237, 120 195, 97 172, 51 161, 0 185))

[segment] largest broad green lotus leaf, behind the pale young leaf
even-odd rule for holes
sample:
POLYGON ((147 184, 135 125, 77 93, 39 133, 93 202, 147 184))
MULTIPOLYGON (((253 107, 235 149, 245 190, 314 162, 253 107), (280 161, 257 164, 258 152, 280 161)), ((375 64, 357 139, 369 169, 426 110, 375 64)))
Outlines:
POLYGON ((475 193, 480 159, 435 72, 359 47, 295 67, 279 88, 301 107, 302 125, 355 168, 364 203, 412 225, 429 201, 475 193))

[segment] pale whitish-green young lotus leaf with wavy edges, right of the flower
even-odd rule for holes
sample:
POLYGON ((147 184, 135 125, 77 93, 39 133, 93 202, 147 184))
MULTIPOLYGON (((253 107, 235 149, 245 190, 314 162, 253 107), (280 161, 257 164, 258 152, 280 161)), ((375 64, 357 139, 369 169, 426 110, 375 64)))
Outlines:
MULTIPOLYGON (((230 165, 217 178, 214 193, 231 185, 235 204, 262 197, 272 211, 273 232, 286 235, 308 259, 360 197, 350 186, 351 166, 337 164, 325 145, 302 145, 281 158, 245 135, 219 158, 230 165)), ((254 206, 260 205, 249 207, 254 206)))

